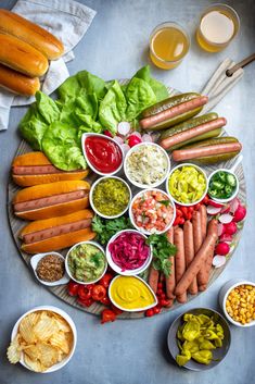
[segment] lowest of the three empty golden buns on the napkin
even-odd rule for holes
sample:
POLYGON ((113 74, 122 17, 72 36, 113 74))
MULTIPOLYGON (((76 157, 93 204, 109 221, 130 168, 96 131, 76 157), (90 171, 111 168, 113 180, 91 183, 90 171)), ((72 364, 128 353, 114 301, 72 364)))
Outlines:
POLYGON ((33 96, 40 89, 38 77, 28 77, 0 64, 0 87, 14 94, 33 96))

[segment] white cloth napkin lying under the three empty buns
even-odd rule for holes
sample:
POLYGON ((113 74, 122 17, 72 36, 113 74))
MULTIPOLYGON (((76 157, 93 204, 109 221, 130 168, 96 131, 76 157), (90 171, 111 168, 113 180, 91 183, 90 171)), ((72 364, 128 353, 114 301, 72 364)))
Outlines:
MULTIPOLYGON (((74 59, 72 50, 89 28, 95 11, 73 0, 18 0, 12 11, 51 32, 65 47, 65 54, 50 62, 42 79, 41 90, 50 95, 69 76, 65 63, 74 59)), ((8 128, 12 106, 26 106, 34 100, 1 88, 0 131, 8 128)))

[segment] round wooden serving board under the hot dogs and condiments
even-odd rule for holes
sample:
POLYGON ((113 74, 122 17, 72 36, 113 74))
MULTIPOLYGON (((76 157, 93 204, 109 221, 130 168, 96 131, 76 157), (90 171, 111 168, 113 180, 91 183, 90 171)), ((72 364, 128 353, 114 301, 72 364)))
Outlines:
MULTIPOLYGON (((173 88, 168 88, 169 90, 169 95, 173 95, 173 94, 177 94, 176 90, 174 90, 173 88)), ((28 144, 26 141, 22 141, 15 156, 18 156, 18 154, 23 154, 23 153, 26 153, 26 152, 29 152, 31 151, 30 147, 28 146, 28 144)), ((227 161, 225 163, 220 163, 220 168, 226 168, 226 169, 230 169, 231 165, 234 163, 234 159, 233 160, 230 160, 230 161, 227 161)), ((175 163, 173 163, 171 161, 171 168, 175 166, 175 163)), ((215 164, 215 165, 206 165, 204 166, 204 170, 206 172, 207 175, 209 175, 211 172, 213 172, 214 170, 218 169, 219 165, 218 164, 215 164)), ((240 193, 239 193, 239 198, 240 200, 245 203, 246 202, 246 188, 245 188, 245 179, 244 179, 244 174, 243 174, 243 168, 241 164, 239 164, 237 171, 235 171, 235 174, 239 178, 239 182, 240 182, 240 193)), ((92 179, 91 179, 92 182, 92 179)), ((16 218, 14 214, 13 214, 13 210, 12 210, 12 200, 13 200, 13 197, 14 195, 17 193, 17 190, 20 189, 20 187, 17 187, 13 182, 12 182, 12 178, 10 177, 10 181, 9 181, 9 185, 8 185, 8 214, 9 214, 9 222, 10 222, 10 226, 11 226, 11 231, 12 231, 12 235, 13 235, 13 238, 14 238, 14 241, 16 244, 16 247, 18 249, 18 252, 21 255, 21 257, 24 259, 25 263, 27 264, 27 267, 30 269, 30 272, 35 278, 35 281, 40 284, 35 275, 34 275, 34 272, 33 272, 33 269, 30 267, 30 256, 23 252, 21 250, 21 240, 18 239, 18 233, 20 231, 22 230, 22 227, 25 225, 25 221, 24 220, 21 220, 18 218, 16 218)), ((224 269, 227 267, 230 258, 233 256, 233 252, 234 250, 237 249, 238 247, 238 244, 239 244, 239 240, 240 240, 240 237, 241 237, 241 232, 242 232, 242 228, 240 231, 238 231, 235 237, 234 237, 234 241, 233 241, 233 245, 231 247, 231 252, 229 253, 228 258, 227 258, 227 262, 224 267, 219 268, 219 269, 214 269, 213 272, 211 273, 211 278, 209 278, 209 283, 208 283, 208 286, 212 285, 214 283, 214 281, 216 278, 218 278, 218 276, 222 273, 224 269)), ((67 249, 65 250, 62 250, 61 253, 62 255, 66 255, 67 252, 67 249)), ((47 289, 49 289, 53 295, 58 296, 60 299, 64 300, 65 302, 69 304, 71 306, 75 307, 75 308, 78 308, 85 312, 89 312, 89 313, 93 313, 93 314, 97 314, 99 315, 101 313, 101 311, 103 310, 103 308, 105 308, 104 306, 100 305, 100 304, 93 304, 92 306, 90 306, 89 308, 86 308, 86 307, 81 307, 77 304, 76 301, 76 298, 75 297, 72 297, 67 294, 67 290, 66 290, 66 285, 59 285, 59 286, 54 286, 54 287, 48 287, 44 285, 44 287, 47 289)), ((199 295, 201 295, 202 293, 200 293, 199 295)), ((189 295, 188 296, 188 301, 192 300, 193 298, 197 297, 197 295, 195 296, 192 296, 192 295, 189 295)), ((169 308, 169 309, 163 309, 162 312, 166 312, 166 311, 173 311, 175 310, 177 307, 180 307, 181 305, 178 304, 178 302, 175 302, 175 305, 169 308)), ((124 312, 122 315, 118 315, 119 319, 142 319, 144 318, 144 314, 142 312, 124 312)))

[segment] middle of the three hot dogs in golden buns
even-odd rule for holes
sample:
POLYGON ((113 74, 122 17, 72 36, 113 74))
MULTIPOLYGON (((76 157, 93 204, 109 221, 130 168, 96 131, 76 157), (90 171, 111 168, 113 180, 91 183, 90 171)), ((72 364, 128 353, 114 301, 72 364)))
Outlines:
POLYGON ((13 199, 14 213, 26 220, 41 220, 69 214, 89 205, 89 183, 55 182, 20 190, 13 199))

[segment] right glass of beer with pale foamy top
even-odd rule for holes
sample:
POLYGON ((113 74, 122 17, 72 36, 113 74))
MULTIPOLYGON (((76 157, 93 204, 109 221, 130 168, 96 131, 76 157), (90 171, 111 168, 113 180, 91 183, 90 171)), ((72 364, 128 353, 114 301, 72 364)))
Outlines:
POLYGON ((230 44, 239 29, 239 15, 231 7, 213 4, 200 17, 196 40, 205 51, 219 52, 230 44))

